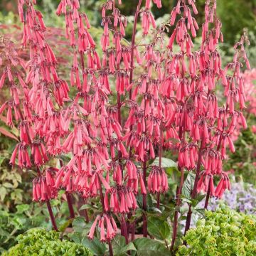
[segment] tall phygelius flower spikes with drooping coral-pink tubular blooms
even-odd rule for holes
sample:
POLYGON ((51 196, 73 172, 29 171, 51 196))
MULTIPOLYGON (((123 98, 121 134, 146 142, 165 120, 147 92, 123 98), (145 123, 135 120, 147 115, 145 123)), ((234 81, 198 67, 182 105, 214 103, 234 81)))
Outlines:
MULTIPOLYGON (((198 11, 193 0, 178 0, 169 21, 159 27, 151 6, 161 8, 161 0, 146 0, 144 6, 139 0, 132 41, 127 44, 123 39, 127 19, 118 9, 121 0, 107 0, 102 6, 102 52, 97 53, 79 1, 61 0, 56 14, 65 15, 66 38, 73 49, 67 82, 58 75, 57 60, 45 41, 43 16, 34 9, 35 4, 36 0, 18 0, 22 45, 29 48, 30 60, 24 64, 6 47, 8 64, 0 80, 0 87, 9 87, 11 94, 0 112, 6 114, 10 127, 17 124, 20 130, 10 163, 21 168, 35 166, 38 176, 33 180, 33 200, 47 203, 56 230, 50 199, 58 190, 65 189, 72 218, 73 193, 87 202, 100 197, 102 213, 94 219, 88 237, 92 239, 99 228, 100 241, 108 242, 112 255, 117 226, 127 242, 129 233, 134 239, 136 222, 128 223, 127 218, 136 212, 139 195, 143 198, 143 235, 147 236, 146 194, 156 195, 159 208, 160 196, 169 188, 162 157, 176 146, 181 181, 176 193, 173 250, 184 171, 196 174, 191 198, 205 191, 206 208, 210 196, 220 198, 230 189, 222 165, 228 159, 226 149, 235 151, 231 136, 236 125, 246 128, 240 73, 240 59, 250 68, 244 50, 246 36, 235 45, 233 62, 222 68, 218 43, 223 36, 215 0, 206 1, 197 51, 193 51, 193 38, 199 27, 193 15, 198 11), (136 40, 139 20, 146 43, 144 38, 139 43, 136 40), (172 33, 166 41, 169 30, 172 33), (70 86, 75 87, 75 95, 70 86), (226 102, 220 106, 215 92, 222 88, 226 102), (115 93, 117 97, 112 97, 115 93), (127 108, 128 112, 123 111, 127 108), (60 169, 49 166, 50 159, 67 153, 72 158, 60 161, 60 169), (157 166, 151 164, 156 157, 157 166)), ((186 230, 191 213, 189 205, 186 230)))

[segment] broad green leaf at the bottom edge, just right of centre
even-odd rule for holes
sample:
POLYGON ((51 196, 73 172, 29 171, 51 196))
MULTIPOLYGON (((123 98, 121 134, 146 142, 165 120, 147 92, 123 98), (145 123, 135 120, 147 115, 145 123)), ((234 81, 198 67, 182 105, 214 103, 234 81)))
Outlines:
POLYGON ((170 255, 169 250, 159 241, 149 238, 137 238, 133 241, 137 249, 137 256, 166 256, 170 255))

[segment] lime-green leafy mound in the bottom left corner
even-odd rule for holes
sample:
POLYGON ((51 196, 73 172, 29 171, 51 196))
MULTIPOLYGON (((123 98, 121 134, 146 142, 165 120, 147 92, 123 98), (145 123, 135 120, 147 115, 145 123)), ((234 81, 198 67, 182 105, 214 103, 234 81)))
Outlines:
POLYGON ((60 233, 33 228, 18 236, 18 244, 11 247, 3 256, 63 255, 89 256, 90 252, 82 245, 68 240, 60 240, 60 233))

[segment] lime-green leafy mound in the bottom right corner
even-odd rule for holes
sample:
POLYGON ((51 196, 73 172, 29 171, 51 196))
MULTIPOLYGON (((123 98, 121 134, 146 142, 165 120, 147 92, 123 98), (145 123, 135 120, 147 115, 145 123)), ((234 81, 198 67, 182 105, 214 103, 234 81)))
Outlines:
POLYGON ((206 219, 186 233, 176 255, 255 255, 256 217, 229 208, 206 211, 206 219))

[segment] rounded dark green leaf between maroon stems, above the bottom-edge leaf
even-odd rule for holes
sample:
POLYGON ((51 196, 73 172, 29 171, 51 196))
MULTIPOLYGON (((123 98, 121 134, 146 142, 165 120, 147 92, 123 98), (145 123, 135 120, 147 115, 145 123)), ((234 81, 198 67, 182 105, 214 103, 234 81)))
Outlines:
POLYGON ((148 218, 148 230, 151 235, 160 240, 165 240, 171 233, 171 229, 166 220, 159 220, 156 217, 148 218))

